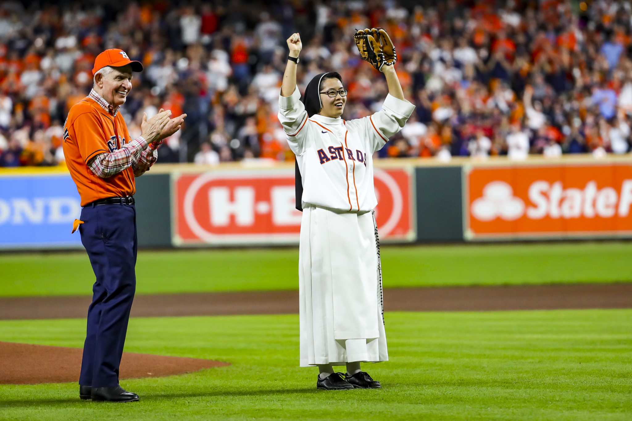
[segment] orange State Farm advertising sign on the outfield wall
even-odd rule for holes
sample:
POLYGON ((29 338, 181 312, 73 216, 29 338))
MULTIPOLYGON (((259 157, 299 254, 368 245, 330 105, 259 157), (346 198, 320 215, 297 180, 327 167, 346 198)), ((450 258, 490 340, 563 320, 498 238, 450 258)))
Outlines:
POLYGON ((471 238, 632 232, 628 165, 473 169, 467 181, 471 238))

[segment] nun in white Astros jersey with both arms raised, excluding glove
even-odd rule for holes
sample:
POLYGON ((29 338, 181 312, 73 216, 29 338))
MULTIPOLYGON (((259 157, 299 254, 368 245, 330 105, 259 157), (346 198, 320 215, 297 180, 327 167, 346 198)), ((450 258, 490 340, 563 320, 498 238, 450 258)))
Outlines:
POLYGON ((318 367, 317 389, 377 389, 380 382, 360 366, 389 359, 373 154, 402 129, 415 106, 404 98, 394 66, 383 66, 389 94, 382 109, 345 121, 348 97, 340 74, 317 74, 301 97, 300 35, 287 42, 278 117, 296 155, 296 201, 303 211, 300 366, 318 367), (334 372, 336 365, 346 372, 334 372))

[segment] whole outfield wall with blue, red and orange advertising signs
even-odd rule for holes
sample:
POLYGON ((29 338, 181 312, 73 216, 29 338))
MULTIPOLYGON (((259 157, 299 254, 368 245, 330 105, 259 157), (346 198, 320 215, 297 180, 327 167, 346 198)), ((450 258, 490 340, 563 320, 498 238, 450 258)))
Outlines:
MULTIPOLYGON (((384 242, 632 238, 632 160, 591 156, 379 160, 384 242)), ((155 165, 137 179, 140 247, 296 245, 288 163, 155 165)), ((0 169, 0 248, 80 248, 63 167, 0 169)))

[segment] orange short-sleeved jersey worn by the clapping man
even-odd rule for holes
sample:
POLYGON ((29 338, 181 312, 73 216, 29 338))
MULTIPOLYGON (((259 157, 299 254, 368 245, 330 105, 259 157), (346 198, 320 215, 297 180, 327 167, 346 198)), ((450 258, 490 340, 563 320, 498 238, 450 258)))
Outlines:
POLYGON ((88 167, 88 161, 99 153, 111 153, 128 141, 130 133, 121 112, 114 117, 88 97, 70 109, 64 124, 64 157, 82 206, 99 199, 136 193, 131 167, 107 179, 95 175, 88 167))

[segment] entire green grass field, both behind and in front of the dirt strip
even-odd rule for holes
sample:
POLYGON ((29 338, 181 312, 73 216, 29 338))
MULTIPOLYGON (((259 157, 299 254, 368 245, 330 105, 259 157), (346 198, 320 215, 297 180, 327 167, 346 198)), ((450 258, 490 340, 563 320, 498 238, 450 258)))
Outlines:
MULTIPOLYGON (((632 282, 631 254, 628 242, 384 246, 382 263, 386 287, 632 282)), ((137 294, 293 290, 297 266, 296 249, 140 251, 137 294)), ((84 252, 4 253, 0 268, 2 297, 89 295, 94 280, 84 252)), ((632 309, 389 312, 391 361, 363 366, 384 388, 326 392, 298 367, 298 315, 132 318, 127 352, 232 365, 123 381, 141 396, 128 404, 80 401, 76 383, 0 385, 0 420, 630 420, 631 326, 632 309)), ((0 321, 0 341, 80 348, 83 335, 84 319, 0 321)))

